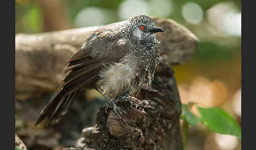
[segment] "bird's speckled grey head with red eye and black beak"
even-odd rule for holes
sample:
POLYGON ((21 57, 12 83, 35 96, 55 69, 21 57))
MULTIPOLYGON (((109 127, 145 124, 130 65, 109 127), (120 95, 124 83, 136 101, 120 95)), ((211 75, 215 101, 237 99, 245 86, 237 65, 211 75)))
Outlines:
POLYGON ((155 33, 163 32, 160 27, 156 27, 153 19, 146 15, 139 15, 128 20, 128 26, 126 26, 126 35, 130 40, 139 42, 144 46, 153 46, 158 43, 155 33))

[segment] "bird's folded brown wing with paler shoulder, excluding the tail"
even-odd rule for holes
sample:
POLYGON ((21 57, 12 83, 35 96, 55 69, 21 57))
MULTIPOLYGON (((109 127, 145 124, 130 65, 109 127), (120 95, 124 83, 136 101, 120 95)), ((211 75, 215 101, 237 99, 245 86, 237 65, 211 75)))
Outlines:
POLYGON ((82 49, 68 60, 64 72, 63 88, 65 93, 72 93, 82 87, 92 87, 99 80, 102 67, 117 62, 131 48, 129 40, 110 29, 96 30, 82 49))

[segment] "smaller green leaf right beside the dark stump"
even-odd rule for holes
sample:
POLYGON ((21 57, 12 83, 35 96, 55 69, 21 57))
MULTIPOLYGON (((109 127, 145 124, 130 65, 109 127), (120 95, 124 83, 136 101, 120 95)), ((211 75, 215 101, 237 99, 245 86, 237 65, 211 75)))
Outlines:
POLYGON ((181 119, 183 119, 185 122, 188 122, 189 124, 195 126, 196 124, 198 124, 198 117, 196 117, 194 114, 192 114, 189 109, 188 106, 185 104, 182 104, 182 116, 181 119))

